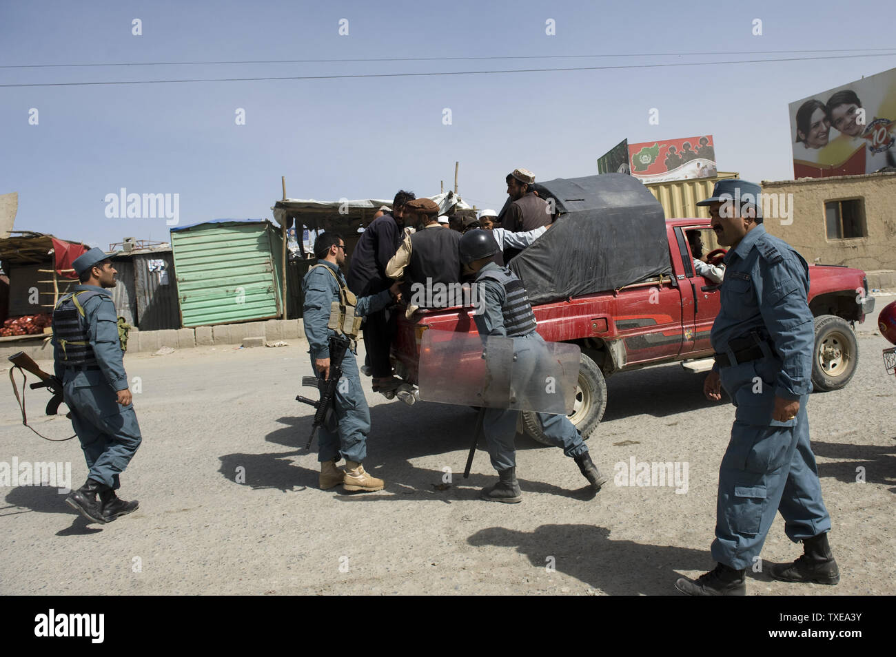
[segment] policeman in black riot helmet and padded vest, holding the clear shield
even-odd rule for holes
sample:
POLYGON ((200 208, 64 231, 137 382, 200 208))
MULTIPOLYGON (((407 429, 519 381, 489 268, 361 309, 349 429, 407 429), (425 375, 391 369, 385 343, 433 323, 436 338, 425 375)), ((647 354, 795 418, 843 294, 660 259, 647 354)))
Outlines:
MULTIPOLYGON (((470 230, 461 237, 461 260, 476 274, 474 285, 482 306, 482 312, 474 315, 476 328, 480 336, 513 337, 519 350, 525 351, 526 342, 544 341, 544 338, 535 330, 535 314, 520 279, 510 269, 499 267, 492 261, 497 252, 498 245, 490 231, 470 230)), ((498 472, 498 482, 483 489, 482 499, 507 503, 522 499, 520 483, 516 479, 516 448, 513 444, 519 414, 519 411, 502 408, 486 409, 482 429, 492 466, 498 472)), ((563 448, 566 456, 572 456, 591 488, 599 491, 607 477, 591 461, 588 448, 573 422, 565 415, 547 413, 539 413, 538 422, 547 439, 563 448)))

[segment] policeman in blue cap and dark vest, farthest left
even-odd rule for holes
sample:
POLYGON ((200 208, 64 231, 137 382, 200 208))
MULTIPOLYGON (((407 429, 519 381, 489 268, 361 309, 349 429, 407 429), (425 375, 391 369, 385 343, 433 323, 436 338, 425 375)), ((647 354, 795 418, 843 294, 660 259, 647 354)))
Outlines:
POLYGON ((140 447, 140 427, 127 386, 118 317, 107 288, 116 286, 108 255, 94 248, 74 260, 81 285, 53 311, 53 357, 65 404, 87 461, 87 482, 65 499, 94 523, 109 523, 137 509, 118 499, 119 474, 140 447), (99 499, 98 499, 99 496, 99 499))

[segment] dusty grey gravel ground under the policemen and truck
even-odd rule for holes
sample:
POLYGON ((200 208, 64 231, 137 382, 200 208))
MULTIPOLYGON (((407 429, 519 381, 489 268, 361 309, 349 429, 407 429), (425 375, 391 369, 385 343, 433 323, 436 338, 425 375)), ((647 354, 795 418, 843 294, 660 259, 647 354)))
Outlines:
MULTIPOLYGON (((878 310, 892 298, 878 297, 878 310)), ((875 328, 874 318, 858 328, 849 386, 809 405, 841 582, 783 584, 755 573, 749 594, 896 593, 896 380, 884 374, 888 343, 875 328), (857 482, 860 467, 866 482, 857 482)), ((572 459, 520 438, 518 505, 478 499, 495 479, 484 451, 470 479, 461 477, 471 409, 409 408, 373 394, 369 379, 365 465, 386 487, 317 490, 316 455, 302 449, 310 408, 294 401, 310 373, 304 342, 132 354, 125 366, 141 380, 143 444, 121 493, 140 499, 140 510, 87 525, 55 488, 0 489, 0 593, 671 594, 678 576, 713 566, 718 468, 734 414, 702 397, 703 374, 678 364, 608 380, 607 414, 588 444, 609 473, 631 458, 686 463, 686 492, 609 483, 595 496, 572 459), (439 490, 445 468, 456 474, 439 490)), ((71 434, 65 418, 39 417, 46 392, 28 396, 39 431, 71 434)), ((79 486, 77 440, 38 439, 18 413, 4 395, 0 462, 71 462, 79 486)), ((789 561, 800 548, 779 516, 762 559, 789 561)))

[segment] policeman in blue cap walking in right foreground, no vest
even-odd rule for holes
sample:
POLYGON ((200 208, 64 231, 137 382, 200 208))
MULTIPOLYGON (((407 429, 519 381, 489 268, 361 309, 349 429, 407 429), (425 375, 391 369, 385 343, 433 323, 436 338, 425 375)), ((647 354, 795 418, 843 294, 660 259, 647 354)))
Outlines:
POLYGON ((762 226, 761 188, 721 180, 710 207, 719 245, 728 247, 721 309, 712 325, 715 365, 703 384, 709 399, 721 388, 737 407, 719 468, 718 566, 695 581, 679 579, 688 595, 744 595, 745 570, 758 561, 775 514, 805 553, 769 574, 785 582, 837 584, 828 545, 831 517, 822 500, 809 445, 806 402, 812 390, 814 318, 806 301, 806 260, 762 226))

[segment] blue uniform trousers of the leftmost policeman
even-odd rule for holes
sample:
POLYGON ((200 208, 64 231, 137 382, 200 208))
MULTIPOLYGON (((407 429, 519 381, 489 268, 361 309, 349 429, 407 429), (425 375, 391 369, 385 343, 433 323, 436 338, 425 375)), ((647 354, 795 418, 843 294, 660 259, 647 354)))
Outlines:
POLYGON ((142 441, 134 405, 119 405, 107 383, 91 384, 82 371, 66 372, 63 388, 88 477, 117 490, 118 475, 125 472, 142 441))

